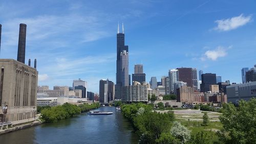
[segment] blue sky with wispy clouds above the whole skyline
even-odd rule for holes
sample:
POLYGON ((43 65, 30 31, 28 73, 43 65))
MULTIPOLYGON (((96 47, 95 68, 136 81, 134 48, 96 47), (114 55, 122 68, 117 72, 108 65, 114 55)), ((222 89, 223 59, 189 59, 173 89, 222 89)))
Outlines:
MULTIPOLYGON (((26 63, 37 58, 38 85, 115 81, 117 23, 124 23, 130 74, 147 81, 193 67, 241 83, 256 64, 256 1, 0 1, 0 58, 17 57, 19 23, 27 24, 26 63)), ((33 65, 33 63, 32 63, 33 65)))

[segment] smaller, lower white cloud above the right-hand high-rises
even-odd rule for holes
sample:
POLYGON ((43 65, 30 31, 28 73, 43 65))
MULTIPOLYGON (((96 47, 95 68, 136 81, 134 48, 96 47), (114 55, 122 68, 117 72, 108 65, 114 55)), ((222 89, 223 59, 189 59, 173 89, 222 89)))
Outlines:
POLYGON ((229 46, 228 48, 224 47, 217 47, 214 50, 207 50, 204 55, 200 58, 202 61, 205 61, 206 59, 210 60, 217 60, 219 57, 224 57, 227 55, 227 49, 230 49, 232 46, 229 46))

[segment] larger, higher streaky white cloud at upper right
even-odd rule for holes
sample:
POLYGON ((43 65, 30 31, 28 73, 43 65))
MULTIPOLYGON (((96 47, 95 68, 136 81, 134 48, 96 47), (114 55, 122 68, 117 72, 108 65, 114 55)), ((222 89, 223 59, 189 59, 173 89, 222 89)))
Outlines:
POLYGON ((251 21, 251 16, 244 16, 243 14, 240 14, 239 16, 227 18, 227 19, 221 19, 216 20, 215 23, 218 24, 218 26, 215 28, 215 30, 219 31, 229 31, 233 29, 237 29, 241 26, 246 25, 251 21))

